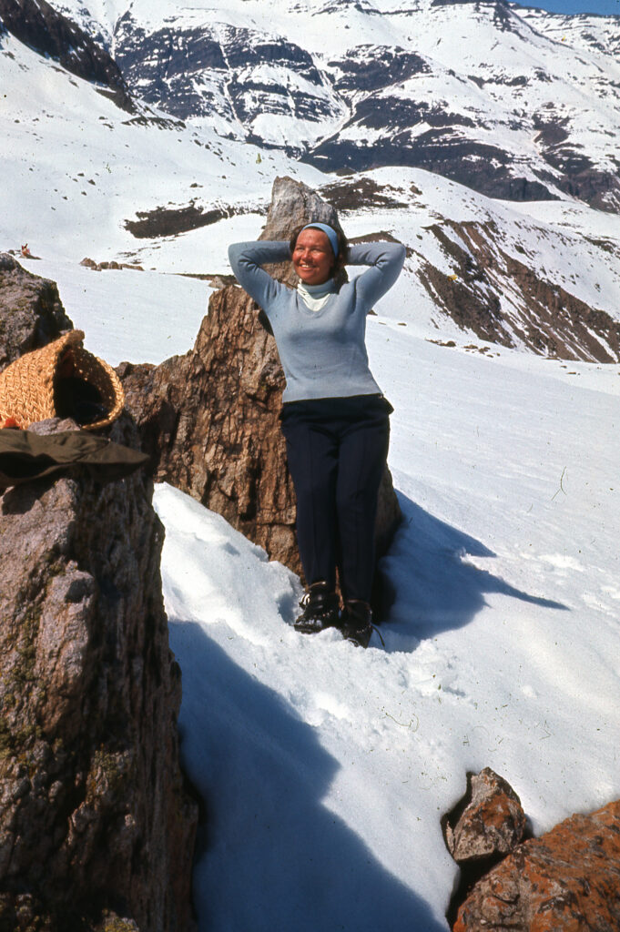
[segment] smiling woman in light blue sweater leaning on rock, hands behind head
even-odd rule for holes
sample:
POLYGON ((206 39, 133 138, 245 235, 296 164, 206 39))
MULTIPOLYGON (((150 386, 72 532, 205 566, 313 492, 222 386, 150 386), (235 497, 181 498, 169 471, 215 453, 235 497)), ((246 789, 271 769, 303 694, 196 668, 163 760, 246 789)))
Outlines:
POLYGON ((286 377, 282 432, 309 585, 296 630, 337 626, 367 647, 375 516, 393 408, 368 368, 365 318, 398 278, 405 249, 388 242, 350 247, 340 229, 313 222, 296 229, 290 242, 235 243, 228 256, 237 280, 269 318, 286 377), (299 277, 296 290, 261 268, 286 260, 299 277), (368 268, 346 281, 345 265, 368 268))

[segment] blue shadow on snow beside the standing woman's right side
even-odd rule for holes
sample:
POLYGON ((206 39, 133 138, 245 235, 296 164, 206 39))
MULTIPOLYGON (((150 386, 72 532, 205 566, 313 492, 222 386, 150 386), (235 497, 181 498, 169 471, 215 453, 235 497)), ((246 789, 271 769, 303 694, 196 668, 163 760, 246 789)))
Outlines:
POLYGON ((414 651, 426 637, 468 624, 500 593, 545 609, 567 611, 561 602, 521 592, 467 556, 495 556, 469 534, 452 528, 397 493, 403 522, 379 563, 381 635, 387 651, 414 651))

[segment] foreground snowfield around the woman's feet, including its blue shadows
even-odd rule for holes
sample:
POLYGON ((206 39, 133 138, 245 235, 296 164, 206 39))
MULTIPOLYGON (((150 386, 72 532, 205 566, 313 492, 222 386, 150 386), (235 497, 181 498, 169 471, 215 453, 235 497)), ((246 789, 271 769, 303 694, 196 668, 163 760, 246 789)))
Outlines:
POLYGON ((205 929, 444 928, 467 771, 536 832, 620 790, 617 397, 397 325, 369 344, 405 515, 385 646, 296 635, 292 574, 157 490, 205 929))

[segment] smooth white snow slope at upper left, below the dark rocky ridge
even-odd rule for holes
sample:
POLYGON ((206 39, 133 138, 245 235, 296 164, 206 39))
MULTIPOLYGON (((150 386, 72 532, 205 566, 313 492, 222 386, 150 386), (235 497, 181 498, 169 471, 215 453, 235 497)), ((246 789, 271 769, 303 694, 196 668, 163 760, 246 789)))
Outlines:
POLYGON ((10 34, 0 36, 0 84, 4 248, 30 241, 39 252, 45 230, 48 255, 137 255, 139 240, 124 226, 136 211, 192 199, 247 211, 269 197, 275 174, 324 180, 280 153, 257 162, 261 150, 213 130, 187 130, 152 110, 127 114, 10 34))

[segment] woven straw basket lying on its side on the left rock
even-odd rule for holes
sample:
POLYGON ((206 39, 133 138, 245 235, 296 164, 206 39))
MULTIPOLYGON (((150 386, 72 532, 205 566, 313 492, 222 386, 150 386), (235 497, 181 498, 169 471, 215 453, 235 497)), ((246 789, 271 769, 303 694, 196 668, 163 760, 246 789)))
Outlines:
POLYGON ((93 431, 116 420, 125 404, 125 393, 116 372, 82 346, 81 330, 70 330, 42 349, 25 353, 0 372, 0 423, 13 418, 19 427, 34 421, 57 418, 56 389, 67 370, 72 377, 84 379, 101 395, 105 417, 89 424, 93 431))

